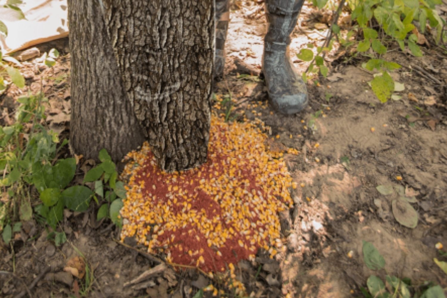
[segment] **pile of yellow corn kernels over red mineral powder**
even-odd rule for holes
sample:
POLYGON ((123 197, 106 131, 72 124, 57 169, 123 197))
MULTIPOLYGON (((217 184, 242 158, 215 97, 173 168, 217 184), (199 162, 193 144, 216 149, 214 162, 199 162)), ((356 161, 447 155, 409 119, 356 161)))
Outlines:
POLYGON ((253 259, 261 247, 273 257, 278 211, 293 204, 292 181, 266 138, 253 124, 213 116, 208 160, 200 168, 161 172, 147 143, 131 152, 122 240, 134 236, 168 263, 205 272, 253 259))

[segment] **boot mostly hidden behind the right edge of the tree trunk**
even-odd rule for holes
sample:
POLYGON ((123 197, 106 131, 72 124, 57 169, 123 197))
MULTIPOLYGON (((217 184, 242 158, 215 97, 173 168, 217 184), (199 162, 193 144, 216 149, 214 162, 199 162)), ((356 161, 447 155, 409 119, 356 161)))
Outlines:
POLYGON ((230 0, 216 0, 216 48, 213 77, 223 76, 225 66, 225 41, 227 40, 228 21, 230 21, 230 0))

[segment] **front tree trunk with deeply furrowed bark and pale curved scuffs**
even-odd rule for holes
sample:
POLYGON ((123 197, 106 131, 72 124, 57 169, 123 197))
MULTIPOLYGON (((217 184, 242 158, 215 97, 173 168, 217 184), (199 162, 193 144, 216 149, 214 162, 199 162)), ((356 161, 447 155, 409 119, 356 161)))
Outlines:
POLYGON ((214 63, 213 0, 104 0, 127 96, 160 168, 206 161, 214 63))

